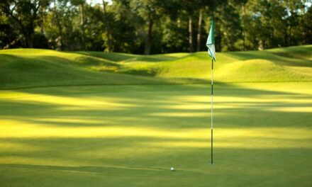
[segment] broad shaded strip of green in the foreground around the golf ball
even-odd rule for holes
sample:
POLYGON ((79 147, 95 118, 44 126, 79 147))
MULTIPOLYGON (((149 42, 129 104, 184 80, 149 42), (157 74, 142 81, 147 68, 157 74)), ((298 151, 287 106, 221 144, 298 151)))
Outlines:
MULTIPOLYGON (((311 149, 215 149, 211 166, 208 147, 154 147, 148 139, 16 139, 41 145, 39 151, 1 152, 2 185, 11 186, 310 186, 311 149), (104 143, 103 143, 104 142, 104 143), (146 142, 138 146, 138 142, 146 142), (128 149, 130 146, 132 149, 128 149), (135 154, 133 154, 135 153, 135 154), (74 164, 73 164, 74 163, 74 164), (73 166, 74 165, 74 166, 73 166), (177 171, 172 173, 169 168, 177 171), (242 177, 244 176, 244 177, 242 177), (121 183, 122 181, 122 183, 121 183)), ((5 140, 6 141, 6 140, 5 140)), ((247 142, 246 142, 247 143, 247 142)), ((208 143, 207 143, 208 144, 208 143)))

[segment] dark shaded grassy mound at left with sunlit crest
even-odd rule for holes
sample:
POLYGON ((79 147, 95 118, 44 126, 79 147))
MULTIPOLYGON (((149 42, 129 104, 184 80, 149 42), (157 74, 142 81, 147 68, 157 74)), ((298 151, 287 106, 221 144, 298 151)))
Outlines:
POLYGON ((3 50, 0 52, 0 87, 4 89, 33 86, 143 84, 157 82, 148 77, 96 72, 83 67, 102 65, 115 69, 118 64, 53 50, 3 50))

